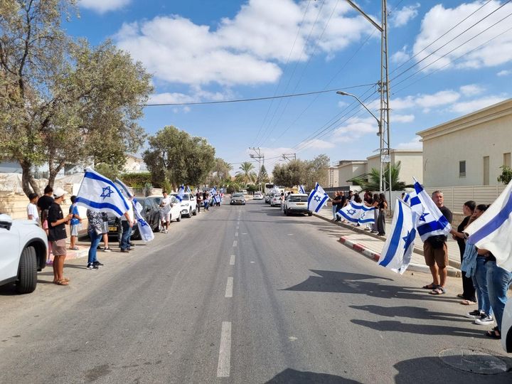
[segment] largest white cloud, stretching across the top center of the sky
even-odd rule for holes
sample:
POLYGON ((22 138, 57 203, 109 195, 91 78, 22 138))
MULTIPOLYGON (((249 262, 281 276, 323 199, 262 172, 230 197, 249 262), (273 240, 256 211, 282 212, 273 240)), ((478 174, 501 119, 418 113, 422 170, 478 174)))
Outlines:
POLYGON ((124 23, 114 39, 119 48, 129 51, 154 78, 164 82, 270 83, 282 75, 279 63, 288 58, 304 61, 314 52, 332 56, 372 31, 351 6, 326 0, 320 14, 319 1, 309 4, 297 36, 308 3, 274 0, 269 6, 267 0, 250 0, 233 18, 223 18, 216 29, 177 15, 157 16, 124 23), (317 41, 318 46, 311 46, 317 41))

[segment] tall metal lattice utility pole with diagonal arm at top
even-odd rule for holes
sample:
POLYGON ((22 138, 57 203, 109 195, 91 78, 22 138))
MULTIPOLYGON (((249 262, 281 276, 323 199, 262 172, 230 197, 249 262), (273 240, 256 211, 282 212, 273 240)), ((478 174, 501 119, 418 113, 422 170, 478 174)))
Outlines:
MULTIPOLYGON (((380 31, 380 82, 379 93, 380 93, 380 119, 379 119, 379 141, 380 141, 380 180, 379 186, 381 191, 386 190, 386 183, 389 188, 389 204, 391 202, 391 147, 390 147, 390 105, 389 105, 389 75, 388 75, 388 10, 386 6, 386 0, 382 0, 382 20, 381 25, 375 23, 370 16, 364 13, 351 0, 346 0, 354 9, 356 9, 366 20, 368 20, 375 28, 380 31), (388 164, 389 174, 388 181, 385 180, 383 172, 385 165, 388 164)), ((363 105, 364 106, 364 105, 363 105)))

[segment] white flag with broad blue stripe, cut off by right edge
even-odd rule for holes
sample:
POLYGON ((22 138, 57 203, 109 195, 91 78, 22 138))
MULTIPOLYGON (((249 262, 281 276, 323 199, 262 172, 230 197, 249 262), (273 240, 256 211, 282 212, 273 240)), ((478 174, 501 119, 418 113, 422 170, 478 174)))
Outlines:
POLYGON ((512 181, 464 232, 469 233, 468 242, 496 257, 498 267, 512 271, 512 181))

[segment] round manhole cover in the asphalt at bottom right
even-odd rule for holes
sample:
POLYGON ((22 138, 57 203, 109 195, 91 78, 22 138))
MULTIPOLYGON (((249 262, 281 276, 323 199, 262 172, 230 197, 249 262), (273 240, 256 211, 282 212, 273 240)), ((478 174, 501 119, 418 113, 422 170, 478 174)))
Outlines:
POLYGON ((507 371, 504 361, 489 353, 467 348, 448 348, 439 352, 443 363, 453 368, 481 375, 496 375, 507 371))

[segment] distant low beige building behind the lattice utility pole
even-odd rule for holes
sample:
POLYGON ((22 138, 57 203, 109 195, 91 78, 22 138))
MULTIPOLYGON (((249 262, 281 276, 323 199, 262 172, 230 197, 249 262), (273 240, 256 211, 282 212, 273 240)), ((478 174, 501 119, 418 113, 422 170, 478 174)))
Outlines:
MULTIPOLYGON (((413 177, 423 180, 423 159, 421 149, 394 149, 391 151, 391 162, 400 161, 400 181, 407 184, 414 183, 413 177)), ((365 178, 371 169, 380 171, 380 156, 368 156, 366 160, 341 160, 329 168, 329 187, 353 186, 352 179, 365 178)))

